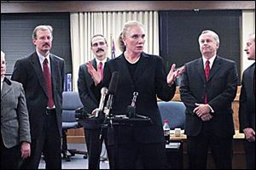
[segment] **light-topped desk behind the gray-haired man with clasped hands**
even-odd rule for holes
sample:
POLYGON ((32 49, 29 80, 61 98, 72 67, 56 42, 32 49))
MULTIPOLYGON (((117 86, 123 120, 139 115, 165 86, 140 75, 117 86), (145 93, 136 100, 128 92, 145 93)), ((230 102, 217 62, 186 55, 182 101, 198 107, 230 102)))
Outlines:
MULTIPOLYGON (((187 136, 185 134, 181 134, 180 136, 174 136, 174 134, 171 134, 170 139, 171 139, 171 142, 180 142, 180 144, 183 145, 182 146, 183 168, 187 169, 189 167, 189 160, 188 160, 188 154, 187 154, 187 136)), ((244 134, 239 133, 239 131, 236 130, 236 133, 233 137, 233 158, 232 158, 233 169, 246 168, 246 158, 245 158, 245 152, 243 149, 243 139, 244 139, 244 134)), ((176 157, 172 157, 172 159, 175 159, 175 158, 176 157)), ((175 163, 172 165, 177 166, 175 163)), ((211 151, 208 152, 207 169, 208 168, 209 169, 215 168, 211 151)))

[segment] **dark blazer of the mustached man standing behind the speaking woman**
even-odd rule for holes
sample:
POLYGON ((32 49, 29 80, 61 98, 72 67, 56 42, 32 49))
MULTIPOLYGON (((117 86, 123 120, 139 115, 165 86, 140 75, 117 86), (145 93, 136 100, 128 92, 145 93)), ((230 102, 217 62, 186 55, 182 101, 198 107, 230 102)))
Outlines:
MULTIPOLYGON (((107 59, 108 60, 108 59, 107 59)), ((95 69, 96 59, 92 59, 92 65, 95 69)), ((91 90, 92 86, 94 86, 94 82, 90 77, 89 72, 87 71, 86 64, 79 66, 79 80, 78 80, 78 88, 79 88, 79 97, 84 105, 84 111, 87 113, 91 113, 91 111, 95 110, 99 106, 100 100, 96 99, 95 94, 91 90)), ((85 128, 98 128, 101 127, 100 122, 89 121, 84 123, 85 128)))

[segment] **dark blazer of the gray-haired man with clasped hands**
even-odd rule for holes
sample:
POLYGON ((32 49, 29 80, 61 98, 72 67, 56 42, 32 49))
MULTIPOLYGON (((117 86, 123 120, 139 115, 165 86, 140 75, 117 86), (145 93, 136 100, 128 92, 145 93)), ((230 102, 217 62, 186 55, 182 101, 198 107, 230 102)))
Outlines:
POLYGON ((212 106, 214 116, 208 125, 212 133, 229 136, 235 133, 232 101, 236 97, 238 75, 236 63, 219 56, 213 61, 209 81, 206 81, 203 60, 195 59, 185 64, 180 94, 186 105, 185 133, 196 136, 201 132, 201 118, 193 113, 195 103, 203 104, 207 92, 208 104, 212 106))

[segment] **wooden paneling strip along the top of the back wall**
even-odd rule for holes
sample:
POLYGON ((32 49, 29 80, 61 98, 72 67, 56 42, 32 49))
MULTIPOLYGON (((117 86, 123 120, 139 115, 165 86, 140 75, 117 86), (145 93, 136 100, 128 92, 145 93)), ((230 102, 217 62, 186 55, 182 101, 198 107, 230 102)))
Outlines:
POLYGON ((255 9, 254 1, 1 1, 2 13, 255 9))

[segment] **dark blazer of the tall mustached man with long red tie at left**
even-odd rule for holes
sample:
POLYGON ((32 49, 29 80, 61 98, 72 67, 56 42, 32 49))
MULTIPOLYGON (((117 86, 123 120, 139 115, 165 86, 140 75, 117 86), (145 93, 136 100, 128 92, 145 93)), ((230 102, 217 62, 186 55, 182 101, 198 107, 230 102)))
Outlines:
MULTIPOLYGON (((61 105, 65 76, 64 59, 54 54, 49 54, 49 59, 56 117, 59 135, 61 136, 61 105)), ((37 139, 38 134, 43 130, 44 115, 48 104, 47 89, 38 54, 34 52, 23 59, 17 60, 11 79, 21 82, 23 85, 26 94, 26 105, 29 113, 32 139, 37 139)))

